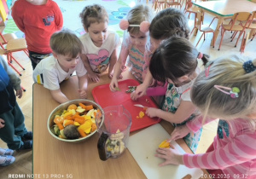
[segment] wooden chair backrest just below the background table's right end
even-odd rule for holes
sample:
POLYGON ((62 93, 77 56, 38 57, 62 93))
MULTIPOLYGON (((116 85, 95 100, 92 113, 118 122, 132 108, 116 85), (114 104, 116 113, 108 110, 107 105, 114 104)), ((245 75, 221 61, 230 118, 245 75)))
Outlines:
POLYGON ((246 26, 250 23, 250 19, 252 17, 252 13, 248 12, 238 12, 232 16, 232 21, 231 21, 231 26, 230 26, 230 31, 232 30, 233 26, 236 25, 236 22, 238 22, 241 25, 241 23, 244 23, 244 29, 246 26))

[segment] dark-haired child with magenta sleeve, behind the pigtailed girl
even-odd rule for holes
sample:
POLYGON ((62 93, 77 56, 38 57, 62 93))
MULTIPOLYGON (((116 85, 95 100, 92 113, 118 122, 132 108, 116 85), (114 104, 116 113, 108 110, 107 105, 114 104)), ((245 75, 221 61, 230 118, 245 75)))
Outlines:
MULTIPOLYGON (((180 37, 189 39, 189 26, 185 15, 178 9, 164 9, 155 15, 149 26, 149 35, 151 47, 147 50, 147 56, 151 58, 154 50, 157 49, 161 41, 172 38, 180 37)), ((132 100, 143 95, 160 95, 166 92, 166 84, 154 82, 150 72, 147 72, 143 80, 143 84, 137 86, 135 93, 131 94, 132 100), (148 86, 154 84, 156 88, 148 89, 148 86)))

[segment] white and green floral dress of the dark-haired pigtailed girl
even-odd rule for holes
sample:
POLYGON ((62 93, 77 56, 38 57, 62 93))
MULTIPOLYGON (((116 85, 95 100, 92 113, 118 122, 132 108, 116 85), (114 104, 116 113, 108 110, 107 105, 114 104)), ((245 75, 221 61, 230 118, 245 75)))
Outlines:
MULTIPOLYGON (((181 101, 191 101, 190 99, 190 89, 193 84, 194 80, 189 82, 189 84, 183 84, 182 86, 176 87, 174 84, 168 84, 167 91, 166 91, 166 100, 162 109, 164 111, 168 111, 171 113, 175 113, 177 111, 177 107, 179 107, 181 101)), ((197 113, 192 113, 189 118, 187 118, 181 124, 174 124, 173 126, 178 126, 185 124, 189 120, 195 118, 197 113)), ((189 146, 189 148, 195 153, 196 148, 198 147, 198 142, 200 141, 201 137, 201 130, 198 130, 196 133, 190 132, 187 136, 184 136, 183 139, 189 146)))

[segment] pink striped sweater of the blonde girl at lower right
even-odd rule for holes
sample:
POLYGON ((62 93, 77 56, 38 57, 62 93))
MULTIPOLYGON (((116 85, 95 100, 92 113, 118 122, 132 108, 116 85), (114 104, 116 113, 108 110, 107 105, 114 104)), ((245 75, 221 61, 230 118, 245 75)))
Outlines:
MULTIPOLYGON (((214 119, 208 118, 207 122, 211 120, 214 119)), ((191 120, 187 126, 190 130, 199 129, 201 118, 191 120)), ((214 150, 185 154, 184 165, 189 168, 221 169, 227 178, 256 178, 256 131, 252 129, 247 119, 220 120, 218 136, 213 141, 214 150)))

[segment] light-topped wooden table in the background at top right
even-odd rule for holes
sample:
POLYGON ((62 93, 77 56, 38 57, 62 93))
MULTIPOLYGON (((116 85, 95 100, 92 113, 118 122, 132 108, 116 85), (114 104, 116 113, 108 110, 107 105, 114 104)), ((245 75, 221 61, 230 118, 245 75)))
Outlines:
MULTIPOLYGON (((207 2, 194 2, 195 6, 201 8, 202 12, 206 12, 208 14, 212 14, 213 16, 218 17, 218 25, 214 32, 214 40, 218 37, 219 26, 224 21, 224 18, 231 17, 233 14, 237 12, 253 12, 256 10, 256 3, 247 1, 247 0, 221 0, 221 1, 207 1, 207 2)), ((201 19, 199 17, 199 19, 201 19)), ((201 20, 198 20, 198 26, 201 23, 201 20)), ((197 29, 195 30, 196 35, 197 29)), ((253 32, 250 33, 251 38, 253 36, 253 32)), ((213 45, 213 39, 212 43, 213 45)))

